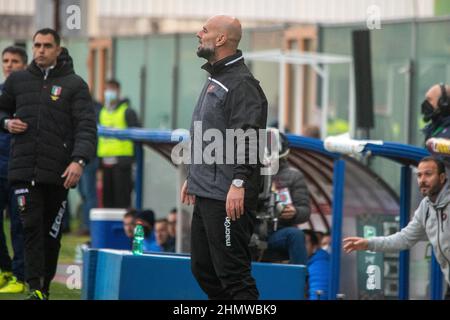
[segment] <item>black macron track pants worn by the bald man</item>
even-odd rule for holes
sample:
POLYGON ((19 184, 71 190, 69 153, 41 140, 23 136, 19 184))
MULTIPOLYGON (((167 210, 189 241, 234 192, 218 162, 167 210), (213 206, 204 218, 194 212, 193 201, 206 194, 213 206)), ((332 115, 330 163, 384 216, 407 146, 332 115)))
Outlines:
POLYGON ((225 202, 196 197, 191 230, 192 273, 210 299, 258 299, 248 247, 254 216, 227 218, 225 202))

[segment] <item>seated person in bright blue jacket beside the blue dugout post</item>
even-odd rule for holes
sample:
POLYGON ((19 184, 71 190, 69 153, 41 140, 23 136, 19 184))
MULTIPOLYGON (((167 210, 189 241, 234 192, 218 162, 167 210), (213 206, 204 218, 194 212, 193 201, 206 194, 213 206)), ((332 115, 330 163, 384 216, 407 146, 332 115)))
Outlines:
POLYGON ((310 300, 328 299, 330 254, 320 248, 319 239, 312 230, 303 230, 308 252, 308 296, 310 300))

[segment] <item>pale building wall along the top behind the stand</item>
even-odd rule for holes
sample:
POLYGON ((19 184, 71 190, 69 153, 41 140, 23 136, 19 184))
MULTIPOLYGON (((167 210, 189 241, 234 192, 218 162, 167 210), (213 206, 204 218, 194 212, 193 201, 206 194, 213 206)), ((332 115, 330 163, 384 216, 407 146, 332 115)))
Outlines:
POLYGON ((195 31, 214 14, 239 17, 245 28, 274 24, 349 23, 380 13, 382 20, 425 18, 450 13, 445 0, 0 0, 2 36, 25 37, 55 21, 55 7, 64 18, 79 6, 85 30, 74 36, 117 36, 195 31), (25 18, 25 19, 24 19, 25 18), (32 18, 32 19, 29 19, 32 18))

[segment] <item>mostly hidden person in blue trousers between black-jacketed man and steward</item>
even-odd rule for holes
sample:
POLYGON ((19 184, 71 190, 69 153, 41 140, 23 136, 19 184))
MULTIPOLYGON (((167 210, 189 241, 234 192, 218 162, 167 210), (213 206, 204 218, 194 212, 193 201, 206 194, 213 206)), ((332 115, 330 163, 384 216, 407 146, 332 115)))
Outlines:
MULTIPOLYGON (((98 101, 93 101, 95 118, 98 123, 98 117, 102 105, 98 101)), ((90 161, 84 168, 83 175, 78 182, 78 192, 80 193, 82 199, 82 217, 81 226, 78 230, 78 235, 88 236, 90 234, 90 212, 92 208, 98 206, 97 201, 97 169, 98 169, 98 158, 95 157, 90 161)))

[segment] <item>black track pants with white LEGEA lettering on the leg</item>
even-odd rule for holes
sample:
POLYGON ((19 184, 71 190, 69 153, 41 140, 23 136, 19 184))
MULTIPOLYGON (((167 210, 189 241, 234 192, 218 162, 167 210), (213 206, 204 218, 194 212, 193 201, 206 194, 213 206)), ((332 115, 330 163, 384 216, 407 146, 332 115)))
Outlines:
POLYGON ((61 222, 67 192, 56 185, 15 184, 14 196, 23 223, 25 280, 30 290, 48 293, 61 247, 61 222))

